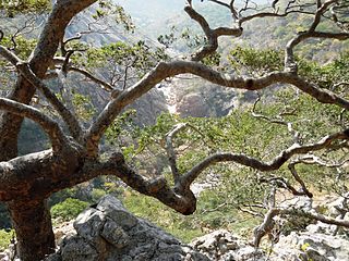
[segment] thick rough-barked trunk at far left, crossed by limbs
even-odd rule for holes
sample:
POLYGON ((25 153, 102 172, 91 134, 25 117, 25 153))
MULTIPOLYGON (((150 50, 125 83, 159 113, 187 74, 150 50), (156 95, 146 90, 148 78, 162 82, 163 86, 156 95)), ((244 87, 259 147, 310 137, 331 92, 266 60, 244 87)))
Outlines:
MULTIPOLYGON (((37 77, 43 78, 45 76, 70 21, 94 2, 96 0, 62 0, 53 5, 38 45, 29 59, 29 66, 37 77)), ((19 75, 9 98, 28 104, 35 91, 35 86, 25 77, 19 75)), ((23 117, 19 114, 12 114, 8 111, 1 114, 0 161, 9 161, 17 156, 17 136, 22 122, 23 117)), ((1 194, 3 191, 0 191, 1 194)), ((55 237, 46 199, 41 198, 37 201, 14 200, 8 203, 8 208, 20 243, 20 258, 31 261, 40 260, 46 253, 52 252, 55 237)))

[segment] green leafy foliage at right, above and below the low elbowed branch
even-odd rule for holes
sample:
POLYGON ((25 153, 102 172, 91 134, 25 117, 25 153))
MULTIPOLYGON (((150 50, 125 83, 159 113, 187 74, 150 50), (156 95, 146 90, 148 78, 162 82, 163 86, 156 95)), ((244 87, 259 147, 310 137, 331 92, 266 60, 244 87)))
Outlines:
MULTIPOLYGON (((135 159, 166 154, 166 134, 173 129, 176 124, 188 123, 191 127, 180 132, 173 140, 181 173, 185 173, 206 156, 218 151, 241 152, 268 161, 293 144, 293 134, 285 125, 254 117, 251 114, 252 109, 252 105, 245 105, 220 119, 181 119, 178 115, 163 114, 154 126, 142 129, 129 128, 127 133, 119 129, 117 133, 131 137, 129 140, 134 140, 128 147, 130 156, 128 159, 134 162, 135 159)), ((328 133, 338 132, 349 121, 346 114, 339 119, 341 115, 339 108, 313 102, 311 97, 297 94, 291 88, 275 91, 273 99, 257 103, 254 112, 291 123, 294 132, 300 133, 301 144, 314 142, 328 133)), ((110 129, 108 138, 113 139, 112 134, 110 129)), ((329 162, 336 162, 345 157, 345 152, 330 150, 315 154, 329 162)), ((346 175, 344 173, 339 175, 330 167, 305 164, 298 165, 297 170, 315 194, 322 194, 324 190, 329 194, 345 191, 346 175), (336 184, 333 181, 336 181, 336 184)), ((167 167, 163 169, 161 174, 171 179, 167 167)), ((264 213, 263 208, 256 209, 251 206, 263 206, 269 197, 268 194, 274 185, 263 182, 266 178, 282 176, 293 186, 299 186, 287 166, 265 174, 232 163, 220 163, 203 173, 198 182, 209 183, 212 176, 217 176, 219 184, 214 189, 207 189, 200 195, 197 211, 190 217, 177 219, 174 213, 166 210, 159 202, 132 192, 127 194, 124 202, 139 215, 189 240, 206 228, 227 227, 242 234, 245 234, 246 229, 251 231, 261 220, 257 216, 249 219, 245 210, 264 213), (154 211, 157 209, 161 210, 154 211), (160 219, 158 213, 161 213, 160 219)), ((281 198, 284 194, 287 195, 284 188, 279 191, 281 198)), ((303 227, 304 222, 294 220, 292 225, 303 227)), ((292 229, 294 229, 293 226, 292 229)))

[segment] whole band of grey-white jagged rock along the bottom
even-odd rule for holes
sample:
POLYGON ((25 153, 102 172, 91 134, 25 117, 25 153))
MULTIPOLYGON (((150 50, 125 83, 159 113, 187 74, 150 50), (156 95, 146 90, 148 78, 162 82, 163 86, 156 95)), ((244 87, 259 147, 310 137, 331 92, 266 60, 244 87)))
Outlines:
MULTIPOLYGON (((342 201, 327 204, 338 209, 342 201)), ((56 228, 58 249, 46 261, 348 261, 348 231, 323 223, 303 232, 280 235, 278 241, 254 248, 228 231, 215 231, 189 245, 152 223, 139 219, 111 197, 104 197, 74 223, 56 228)), ((13 246, 12 246, 13 249, 13 246)), ((0 260, 13 260, 11 251, 0 260)))

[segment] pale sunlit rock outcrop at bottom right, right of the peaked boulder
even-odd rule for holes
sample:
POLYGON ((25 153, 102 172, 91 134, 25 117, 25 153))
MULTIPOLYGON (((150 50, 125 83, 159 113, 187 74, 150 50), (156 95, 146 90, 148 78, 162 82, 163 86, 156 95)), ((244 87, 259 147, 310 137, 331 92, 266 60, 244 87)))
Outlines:
POLYGON ((228 231, 215 231, 195 239, 191 246, 215 261, 347 261, 349 240, 342 236, 314 232, 324 224, 311 225, 304 232, 281 235, 273 246, 252 247, 228 231))

